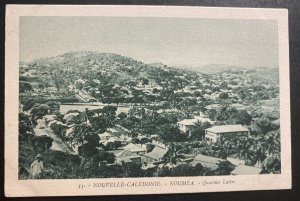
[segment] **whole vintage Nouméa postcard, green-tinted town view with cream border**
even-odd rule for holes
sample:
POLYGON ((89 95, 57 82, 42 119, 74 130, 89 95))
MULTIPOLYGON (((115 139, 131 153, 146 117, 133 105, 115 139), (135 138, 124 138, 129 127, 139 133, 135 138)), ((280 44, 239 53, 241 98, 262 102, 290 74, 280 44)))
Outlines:
MULTIPOLYGON (((6 174, 20 186, 78 181, 69 192, 80 195, 289 188, 283 10, 78 8, 8 12, 18 34, 7 48, 18 52, 6 66, 14 130, 5 136, 16 140, 6 174), (284 179, 264 185, 271 177, 284 179)), ((44 195, 28 189, 15 194, 44 195)))

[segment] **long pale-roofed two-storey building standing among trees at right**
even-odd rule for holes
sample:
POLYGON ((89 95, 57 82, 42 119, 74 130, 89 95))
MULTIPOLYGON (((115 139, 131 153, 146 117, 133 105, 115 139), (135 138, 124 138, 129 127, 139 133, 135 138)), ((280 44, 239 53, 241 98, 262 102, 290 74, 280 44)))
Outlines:
POLYGON ((205 139, 211 142, 222 141, 224 138, 248 137, 250 131, 240 124, 213 126, 205 129, 205 139))

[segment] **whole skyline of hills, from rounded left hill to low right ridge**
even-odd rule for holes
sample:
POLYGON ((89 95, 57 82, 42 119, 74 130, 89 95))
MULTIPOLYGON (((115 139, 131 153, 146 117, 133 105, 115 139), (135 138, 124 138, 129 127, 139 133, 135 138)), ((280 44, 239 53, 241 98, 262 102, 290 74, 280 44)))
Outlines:
MULTIPOLYGON (((96 79, 101 72, 109 72, 114 83, 131 78, 158 78, 161 80, 173 79, 175 75, 185 73, 217 74, 222 72, 246 72, 253 77, 278 82, 277 69, 265 67, 244 68, 226 64, 210 64, 199 67, 173 66, 169 67, 161 62, 145 64, 130 57, 93 51, 68 52, 50 58, 41 58, 28 63, 41 72, 49 72, 53 76, 63 75, 73 81, 75 77, 96 79), (69 73, 68 70, 72 71, 69 73), (63 71, 63 72, 61 72, 63 71), (66 72, 67 71, 67 72, 66 72), (66 72, 66 73, 64 73, 66 72)), ((55 78, 55 77, 54 77, 55 78)))

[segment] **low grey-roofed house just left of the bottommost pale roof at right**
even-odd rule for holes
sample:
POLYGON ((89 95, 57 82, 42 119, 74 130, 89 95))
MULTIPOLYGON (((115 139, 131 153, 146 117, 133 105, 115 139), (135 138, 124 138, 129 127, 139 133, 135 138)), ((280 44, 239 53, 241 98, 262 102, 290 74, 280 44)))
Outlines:
POLYGON ((211 156, 206 156, 202 154, 198 154, 194 160, 191 162, 192 166, 196 166, 198 163, 200 163, 203 167, 209 168, 212 170, 216 170, 219 167, 219 163, 225 161, 221 158, 215 158, 211 156))

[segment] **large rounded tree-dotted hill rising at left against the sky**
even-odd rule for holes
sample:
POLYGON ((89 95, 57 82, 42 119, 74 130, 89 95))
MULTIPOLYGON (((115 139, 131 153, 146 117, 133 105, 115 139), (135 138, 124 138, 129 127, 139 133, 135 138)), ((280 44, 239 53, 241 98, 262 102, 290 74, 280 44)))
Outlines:
MULTIPOLYGON (((40 74, 50 75, 51 83, 74 83, 76 79, 105 79, 111 84, 123 85, 129 80, 151 78, 172 80, 183 75, 183 70, 167 67, 163 63, 146 64, 130 57, 92 51, 69 52, 51 58, 29 62, 40 74), (57 80, 57 81, 55 81, 57 80)), ((49 76, 48 76, 49 77, 49 76)), ((53 85, 53 84, 52 84, 53 85)))

